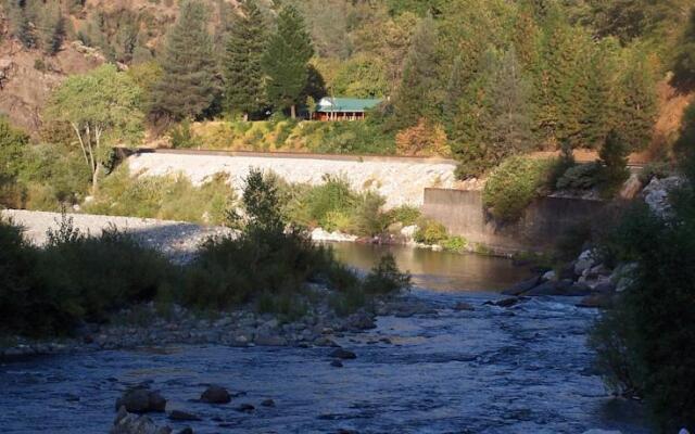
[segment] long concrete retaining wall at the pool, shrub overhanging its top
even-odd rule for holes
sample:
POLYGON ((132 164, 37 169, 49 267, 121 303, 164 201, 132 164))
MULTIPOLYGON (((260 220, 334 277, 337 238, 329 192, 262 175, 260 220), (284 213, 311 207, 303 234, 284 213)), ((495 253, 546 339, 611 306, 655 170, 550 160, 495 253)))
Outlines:
POLYGON ((572 226, 591 218, 602 201, 543 197, 534 201, 519 221, 498 225, 484 212, 482 193, 426 189, 422 214, 441 221, 453 234, 498 253, 547 250, 572 226))

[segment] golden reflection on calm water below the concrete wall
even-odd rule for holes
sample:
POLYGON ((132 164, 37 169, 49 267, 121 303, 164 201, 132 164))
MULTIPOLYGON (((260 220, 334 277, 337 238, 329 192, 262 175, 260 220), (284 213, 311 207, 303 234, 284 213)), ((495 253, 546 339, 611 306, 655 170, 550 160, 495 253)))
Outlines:
POLYGON ((473 254, 433 252, 427 248, 332 243, 337 256, 353 267, 368 269, 391 252, 402 270, 409 270, 417 286, 444 292, 500 291, 530 276, 511 260, 473 254))

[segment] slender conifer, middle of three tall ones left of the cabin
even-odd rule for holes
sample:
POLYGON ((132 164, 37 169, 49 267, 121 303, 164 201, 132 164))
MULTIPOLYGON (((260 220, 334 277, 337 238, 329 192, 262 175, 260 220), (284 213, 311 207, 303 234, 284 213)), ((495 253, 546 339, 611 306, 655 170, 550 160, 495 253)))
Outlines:
POLYGON ((227 40, 224 74, 226 108, 242 113, 244 119, 265 105, 265 84, 261 64, 265 50, 265 23, 254 0, 241 2, 239 15, 227 40))

